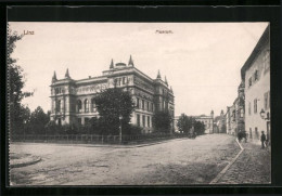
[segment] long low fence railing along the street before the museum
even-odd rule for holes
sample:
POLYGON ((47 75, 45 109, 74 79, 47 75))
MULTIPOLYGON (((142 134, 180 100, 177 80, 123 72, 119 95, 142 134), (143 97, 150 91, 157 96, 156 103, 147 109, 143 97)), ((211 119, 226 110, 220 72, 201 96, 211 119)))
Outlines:
MULTIPOLYGON (((176 138, 188 138, 187 134, 139 134, 123 135, 123 143, 158 141, 176 138)), ((38 143, 91 143, 91 144, 118 144, 119 135, 98 135, 98 134, 14 134, 11 135, 12 142, 38 142, 38 143)))

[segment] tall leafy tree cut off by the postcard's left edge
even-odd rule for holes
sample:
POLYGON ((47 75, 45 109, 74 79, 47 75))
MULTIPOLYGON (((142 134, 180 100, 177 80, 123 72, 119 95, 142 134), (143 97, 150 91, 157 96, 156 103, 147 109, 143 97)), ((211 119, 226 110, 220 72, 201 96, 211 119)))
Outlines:
POLYGON ((24 87, 23 68, 16 65, 16 60, 12 57, 12 53, 16 48, 15 42, 21 40, 22 36, 17 32, 8 32, 8 51, 7 51, 7 65, 8 65, 8 87, 9 87, 9 114, 10 114, 10 128, 12 133, 20 133, 23 128, 23 119, 21 119, 22 105, 21 101, 24 97, 22 89, 24 87))

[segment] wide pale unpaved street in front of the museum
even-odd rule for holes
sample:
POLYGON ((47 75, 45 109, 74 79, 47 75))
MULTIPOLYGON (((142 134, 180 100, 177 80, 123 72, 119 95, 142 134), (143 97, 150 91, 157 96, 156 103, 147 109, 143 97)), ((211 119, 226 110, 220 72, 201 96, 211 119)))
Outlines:
POLYGON ((240 147, 234 136, 207 134, 142 147, 13 143, 10 151, 41 157, 12 168, 12 185, 185 185, 208 184, 240 147))

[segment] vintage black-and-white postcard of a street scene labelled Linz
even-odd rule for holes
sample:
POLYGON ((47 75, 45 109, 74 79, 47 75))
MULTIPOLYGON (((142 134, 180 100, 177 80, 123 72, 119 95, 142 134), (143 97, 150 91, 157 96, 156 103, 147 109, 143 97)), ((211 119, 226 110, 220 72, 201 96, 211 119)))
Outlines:
POLYGON ((11 186, 271 184, 269 23, 8 23, 11 186))

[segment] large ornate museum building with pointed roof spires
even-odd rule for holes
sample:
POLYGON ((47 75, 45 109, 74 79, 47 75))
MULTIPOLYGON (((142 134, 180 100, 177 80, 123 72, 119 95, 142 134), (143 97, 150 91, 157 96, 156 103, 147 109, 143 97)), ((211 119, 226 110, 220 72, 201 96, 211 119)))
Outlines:
POLYGON ((167 110, 172 118, 175 116, 175 96, 166 77, 163 80, 158 70, 156 79, 150 78, 134 67, 131 55, 128 64, 114 64, 112 60, 110 69, 98 77, 74 80, 67 69, 65 78, 57 79, 54 71, 50 87, 50 118, 57 125, 85 125, 92 117, 99 118, 94 97, 114 87, 129 91, 132 95, 136 108, 130 123, 141 127, 143 133, 153 132, 155 112, 167 110))

